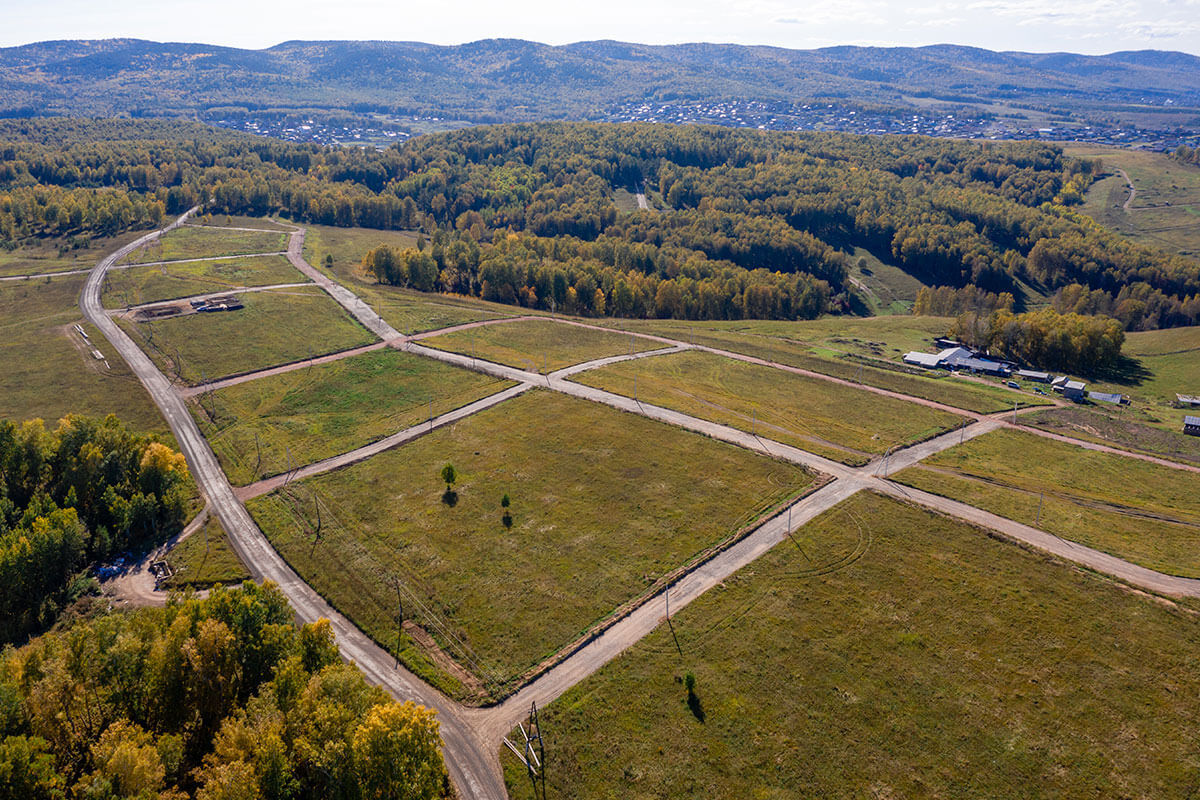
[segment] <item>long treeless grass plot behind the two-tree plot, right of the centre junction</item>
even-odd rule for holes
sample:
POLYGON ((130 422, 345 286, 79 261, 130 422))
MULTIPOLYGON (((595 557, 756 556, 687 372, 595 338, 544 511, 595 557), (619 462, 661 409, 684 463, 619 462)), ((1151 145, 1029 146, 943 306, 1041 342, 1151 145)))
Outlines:
POLYGON ((636 389, 640 401, 854 465, 966 422, 916 403, 692 350, 608 365, 572 380, 626 397, 636 389))

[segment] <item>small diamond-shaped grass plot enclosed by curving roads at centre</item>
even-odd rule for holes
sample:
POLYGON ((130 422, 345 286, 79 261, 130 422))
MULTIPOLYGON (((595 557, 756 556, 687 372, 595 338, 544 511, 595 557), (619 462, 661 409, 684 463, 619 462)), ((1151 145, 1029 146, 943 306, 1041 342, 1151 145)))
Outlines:
POLYGON ((541 319, 443 333, 422 339, 421 344, 544 374, 594 359, 667 347, 616 331, 541 319))

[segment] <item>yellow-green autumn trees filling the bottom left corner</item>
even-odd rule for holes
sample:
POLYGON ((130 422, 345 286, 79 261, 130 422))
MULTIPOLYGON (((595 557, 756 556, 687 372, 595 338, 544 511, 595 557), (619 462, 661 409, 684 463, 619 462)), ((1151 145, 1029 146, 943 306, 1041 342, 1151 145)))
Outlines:
POLYGON ((433 712, 368 686, 326 620, 248 583, 0 655, 0 798, 432 800, 433 712))

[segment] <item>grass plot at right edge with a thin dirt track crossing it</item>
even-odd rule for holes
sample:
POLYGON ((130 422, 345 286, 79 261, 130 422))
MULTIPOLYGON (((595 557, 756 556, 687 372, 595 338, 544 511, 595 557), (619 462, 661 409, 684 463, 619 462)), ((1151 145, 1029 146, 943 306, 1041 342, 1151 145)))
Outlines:
POLYGON ((995 431, 893 480, 1152 570, 1200 576, 1195 473, 995 431))

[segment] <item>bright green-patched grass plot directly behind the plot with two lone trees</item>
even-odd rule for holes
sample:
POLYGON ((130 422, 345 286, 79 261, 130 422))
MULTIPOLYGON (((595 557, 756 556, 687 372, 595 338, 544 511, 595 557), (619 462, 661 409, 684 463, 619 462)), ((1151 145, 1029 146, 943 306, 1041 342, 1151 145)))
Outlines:
POLYGON ((229 480, 251 483, 361 447, 498 392, 497 380, 392 349, 198 395, 192 414, 229 480))

